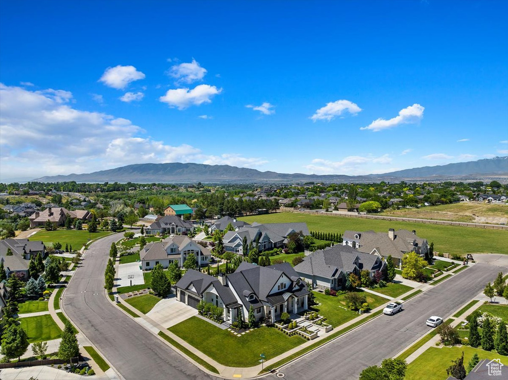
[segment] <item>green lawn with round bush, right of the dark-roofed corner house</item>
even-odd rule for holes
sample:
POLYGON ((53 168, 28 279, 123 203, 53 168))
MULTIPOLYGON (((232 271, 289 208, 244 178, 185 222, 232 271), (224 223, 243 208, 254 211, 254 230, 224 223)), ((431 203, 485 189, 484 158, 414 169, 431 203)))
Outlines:
MULTIPOLYGON (((388 302, 388 299, 372 293, 363 292, 361 290, 357 292, 365 294, 367 297, 367 302, 372 309, 388 302)), ((312 309, 318 311, 320 315, 326 317, 326 322, 333 327, 337 327, 359 316, 357 312, 344 309, 344 307, 347 307, 344 294, 333 297, 327 296, 323 293, 314 292, 314 295, 316 302, 321 303, 321 305, 312 306, 312 309)))

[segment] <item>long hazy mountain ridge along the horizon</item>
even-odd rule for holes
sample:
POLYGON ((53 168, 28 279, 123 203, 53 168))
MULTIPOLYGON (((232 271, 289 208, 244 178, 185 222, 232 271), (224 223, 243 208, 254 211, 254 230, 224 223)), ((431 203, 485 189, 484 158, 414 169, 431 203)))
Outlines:
POLYGON ((95 171, 88 174, 67 176, 46 176, 35 179, 39 182, 134 182, 134 183, 253 183, 253 182, 368 182, 377 180, 402 179, 443 179, 471 176, 508 177, 508 157, 487 158, 478 161, 450 163, 439 166, 425 166, 398 170, 385 174, 368 176, 283 174, 275 171, 260 171, 230 165, 206 165, 199 163, 142 163, 95 171))

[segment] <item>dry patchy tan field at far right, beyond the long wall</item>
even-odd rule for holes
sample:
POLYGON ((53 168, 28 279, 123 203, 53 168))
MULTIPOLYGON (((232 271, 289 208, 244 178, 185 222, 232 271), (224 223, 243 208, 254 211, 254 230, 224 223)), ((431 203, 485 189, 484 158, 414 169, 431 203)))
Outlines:
POLYGON ((379 215, 400 218, 449 220, 472 223, 507 223, 508 205, 481 202, 460 202, 426 206, 420 209, 385 210, 379 215))

